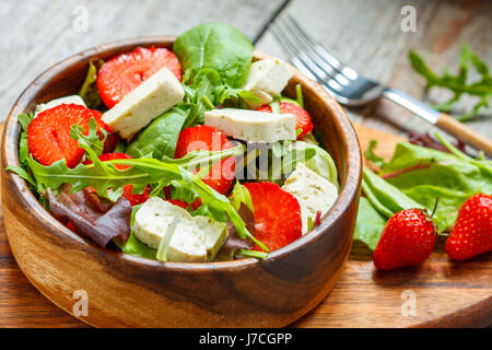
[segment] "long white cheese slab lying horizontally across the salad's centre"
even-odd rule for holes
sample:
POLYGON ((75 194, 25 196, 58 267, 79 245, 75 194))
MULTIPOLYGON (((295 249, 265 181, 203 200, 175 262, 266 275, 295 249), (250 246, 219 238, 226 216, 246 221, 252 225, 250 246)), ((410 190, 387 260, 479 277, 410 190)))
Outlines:
POLYGON ((292 114, 222 108, 204 113, 204 124, 234 139, 250 142, 295 140, 295 117, 292 114))

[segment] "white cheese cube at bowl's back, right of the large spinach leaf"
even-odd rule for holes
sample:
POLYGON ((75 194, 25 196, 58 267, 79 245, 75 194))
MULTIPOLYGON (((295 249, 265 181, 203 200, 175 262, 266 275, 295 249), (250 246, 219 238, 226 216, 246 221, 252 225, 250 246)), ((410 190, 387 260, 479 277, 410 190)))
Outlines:
MULTIPOLYGON (((244 89, 268 104, 272 97, 280 94, 294 73, 289 66, 281 60, 267 58, 251 63, 244 89)), ((250 104, 250 108, 259 107, 259 104, 250 104)))

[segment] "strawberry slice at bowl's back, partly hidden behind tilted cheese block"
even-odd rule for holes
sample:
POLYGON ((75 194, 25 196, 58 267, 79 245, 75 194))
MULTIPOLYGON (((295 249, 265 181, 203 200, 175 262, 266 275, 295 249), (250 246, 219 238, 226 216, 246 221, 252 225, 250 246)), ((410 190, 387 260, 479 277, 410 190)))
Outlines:
POLYGON ((97 89, 108 108, 113 108, 125 95, 166 67, 181 81, 181 67, 173 51, 164 47, 137 47, 107 60, 97 72, 97 89))

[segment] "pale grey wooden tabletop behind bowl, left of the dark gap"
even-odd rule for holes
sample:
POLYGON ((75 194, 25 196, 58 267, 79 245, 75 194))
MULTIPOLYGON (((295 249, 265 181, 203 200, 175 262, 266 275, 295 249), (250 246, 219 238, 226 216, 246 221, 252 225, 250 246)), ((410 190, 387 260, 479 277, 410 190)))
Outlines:
POLYGON ((0 120, 46 68, 122 38, 177 35, 202 22, 233 24, 256 37, 282 0, 2 0, 0 120), (87 27, 83 27, 86 13, 87 27))

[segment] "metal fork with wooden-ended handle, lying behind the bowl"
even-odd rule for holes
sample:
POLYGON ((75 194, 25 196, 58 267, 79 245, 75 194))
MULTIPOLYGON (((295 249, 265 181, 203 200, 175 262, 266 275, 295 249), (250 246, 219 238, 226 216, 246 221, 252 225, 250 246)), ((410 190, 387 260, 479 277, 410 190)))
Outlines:
POLYGON ((290 56, 292 65, 327 89, 342 105, 363 106, 379 97, 386 97, 473 148, 492 155, 490 139, 399 90, 362 77, 307 35, 290 15, 278 19, 271 28, 274 37, 290 56))

